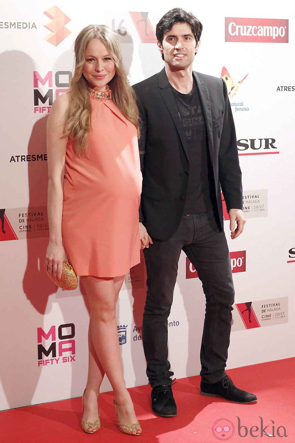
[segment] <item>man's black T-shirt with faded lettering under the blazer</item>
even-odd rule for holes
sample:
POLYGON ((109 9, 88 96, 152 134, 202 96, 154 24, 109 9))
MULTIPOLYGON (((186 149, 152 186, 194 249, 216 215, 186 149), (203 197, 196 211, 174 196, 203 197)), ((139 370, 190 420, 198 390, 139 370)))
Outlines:
MULTIPOLYGON (((171 86, 172 87, 172 86, 171 86)), ((182 94, 172 87, 188 148, 188 193, 184 214, 199 214, 212 209, 208 169, 207 134, 197 86, 182 94)))

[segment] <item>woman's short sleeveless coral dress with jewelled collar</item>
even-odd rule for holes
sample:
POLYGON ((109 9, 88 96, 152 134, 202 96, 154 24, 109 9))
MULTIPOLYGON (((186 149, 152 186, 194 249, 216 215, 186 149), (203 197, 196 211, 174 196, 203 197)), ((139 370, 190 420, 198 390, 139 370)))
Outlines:
POLYGON ((137 130, 107 95, 89 97, 87 157, 66 148, 62 239, 78 276, 122 276, 140 262, 137 130))

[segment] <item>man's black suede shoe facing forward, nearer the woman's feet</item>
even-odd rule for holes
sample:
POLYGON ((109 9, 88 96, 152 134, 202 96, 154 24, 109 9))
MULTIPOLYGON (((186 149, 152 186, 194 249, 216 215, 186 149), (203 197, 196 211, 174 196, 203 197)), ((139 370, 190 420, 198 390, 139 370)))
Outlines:
POLYGON ((175 417, 177 415, 171 385, 155 386, 152 389, 151 397, 152 410, 155 414, 161 417, 175 417))

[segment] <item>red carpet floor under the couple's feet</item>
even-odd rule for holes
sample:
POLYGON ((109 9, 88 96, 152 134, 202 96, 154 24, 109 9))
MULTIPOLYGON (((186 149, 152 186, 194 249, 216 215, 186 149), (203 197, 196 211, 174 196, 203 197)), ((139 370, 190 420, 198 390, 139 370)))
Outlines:
MULTIPOLYGON (((228 403, 217 397, 201 396, 199 376, 177 380, 173 392, 178 415, 172 418, 153 415, 150 410, 148 385, 130 389, 134 408, 142 426, 142 435, 136 441, 218 443, 226 440, 229 443, 295 443, 294 363, 295 358, 288 358, 227 371, 238 387, 257 395, 258 401, 255 404, 228 403), (220 419, 224 420, 215 424, 220 419), (212 432, 214 424, 215 434, 212 432), (218 433, 215 430, 216 427, 218 429, 218 425, 226 431, 218 433), (226 425, 230 427, 229 431, 226 425), (234 428, 231 428, 232 425, 234 428), (275 438, 265 435, 263 429, 275 438)), ((112 392, 100 395, 99 406, 101 428, 94 435, 87 435, 80 429, 80 397, 0 412, 0 441, 131 443, 134 437, 122 434, 116 426, 112 392)))

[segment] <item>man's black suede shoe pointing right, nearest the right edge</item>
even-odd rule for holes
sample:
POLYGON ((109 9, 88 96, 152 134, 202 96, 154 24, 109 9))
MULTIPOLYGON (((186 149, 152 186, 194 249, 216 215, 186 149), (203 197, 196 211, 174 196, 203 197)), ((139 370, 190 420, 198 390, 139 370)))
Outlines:
POLYGON ((257 401, 256 395, 236 388, 228 375, 225 375, 217 383, 211 384, 201 381, 200 387, 201 395, 207 395, 208 397, 221 397, 234 403, 253 403, 253 401, 257 401))

